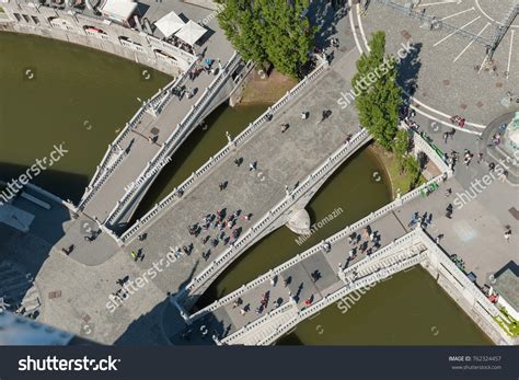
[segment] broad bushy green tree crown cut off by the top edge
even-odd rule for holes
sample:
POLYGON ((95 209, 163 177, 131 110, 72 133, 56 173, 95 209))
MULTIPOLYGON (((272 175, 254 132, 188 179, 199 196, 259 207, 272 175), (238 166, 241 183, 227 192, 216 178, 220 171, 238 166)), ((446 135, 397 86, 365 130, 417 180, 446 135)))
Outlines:
POLYGON ((308 0, 227 0, 218 14, 221 28, 244 59, 270 62, 282 73, 297 77, 308 61, 315 30, 301 13, 308 0))

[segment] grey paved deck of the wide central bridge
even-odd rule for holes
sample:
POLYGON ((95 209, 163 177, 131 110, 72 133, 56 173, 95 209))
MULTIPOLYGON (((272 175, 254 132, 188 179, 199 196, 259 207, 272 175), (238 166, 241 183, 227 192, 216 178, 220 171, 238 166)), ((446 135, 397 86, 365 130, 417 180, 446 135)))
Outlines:
MULTIPOLYGON (((354 51, 348 59, 357 59, 354 51)), ((220 232, 218 228, 209 228, 199 237, 189 235, 188 227, 208 214, 226 209, 228 214, 241 210, 241 216, 252 214, 250 221, 240 218, 233 230, 241 228, 246 231, 253 223, 280 199, 285 197, 285 186, 293 186, 304 180, 326 157, 335 151, 347 134, 358 131, 355 108, 339 111, 336 94, 349 87, 349 81, 342 74, 331 70, 319 81, 319 85, 310 84, 288 106, 275 115, 263 129, 245 145, 240 146, 221 163, 212 168, 201 184, 195 185, 183 198, 160 211, 154 221, 140 231, 147 233, 145 241, 135 239, 127 251, 142 250, 146 255, 143 267, 150 262, 158 262, 175 246, 189 246, 193 253, 182 256, 174 266, 160 273, 154 279, 162 289, 175 292, 181 284, 188 281, 201 272, 215 257, 229 245, 219 240, 217 246, 203 244, 203 238, 211 240, 220 232), (312 93, 312 96, 308 96, 312 93), (332 110, 332 115, 321 123, 322 111, 332 110), (310 112, 307 120, 301 119, 301 112, 310 112), (289 129, 281 134, 280 124, 288 123, 289 129), (234 159, 243 159, 238 166, 234 159), (257 162, 257 170, 251 171, 250 163, 257 162), (219 184, 228 182, 228 187, 219 191, 219 184), (209 258, 201 253, 211 250, 209 258)), ((223 230, 230 237, 231 230, 223 230)))

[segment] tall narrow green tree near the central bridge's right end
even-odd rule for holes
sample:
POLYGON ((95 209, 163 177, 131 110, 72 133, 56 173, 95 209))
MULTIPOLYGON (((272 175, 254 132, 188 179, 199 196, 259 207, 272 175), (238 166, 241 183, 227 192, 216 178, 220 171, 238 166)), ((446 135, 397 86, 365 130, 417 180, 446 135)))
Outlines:
POLYGON ((373 33, 371 51, 357 61, 357 73, 351 85, 358 93, 355 105, 360 124, 374 140, 391 150, 396 136, 402 90, 396 84, 396 62, 385 55, 385 34, 373 33))

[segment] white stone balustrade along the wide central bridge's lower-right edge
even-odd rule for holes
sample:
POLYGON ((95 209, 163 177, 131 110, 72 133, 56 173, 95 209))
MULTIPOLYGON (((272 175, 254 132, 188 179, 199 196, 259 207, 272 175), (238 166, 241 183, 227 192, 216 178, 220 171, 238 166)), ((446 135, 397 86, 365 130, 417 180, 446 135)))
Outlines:
POLYGON ((200 274, 195 276, 193 280, 186 286, 186 288, 181 290, 180 296, 183 296, 184 292, 195 290, 198 286, 203 285, 207 278, 211 277, 221 267, 224 267, 228 262, 231 262, 233 258, 235 258, 240 254, 240 249, 242 246, 247 245, 250 241, 253 241, 258 235, 261 235, 265 230, 265 226, 270 226, 274 220, 279 218, 293 204, 296 204, 297 200, 299 200, 299 197, 305 193, 305 189, 319 183, 319 181, 325 177, 332 169, 339 164, 338 158, 347 158, 348 154, 346 154, 346 152, 355 152, 370 138, 371 137, 368 135, 368 133, 362 129, 356 136, 354 136, 349 143, 339 147, 334 153, 332 153, 324 166, 321 165, 318 168, 312 175, 309 175, 308 179, 303 181, 297 191, 288 194, 285 199, 274 206, 273 209, 270 209, 262 219, 251 227, 244 235, 238 239, 234 244, 223 251, 209 266, 207 266, 200 274), (327 170, 323 170, 323 168, 326 168, 327 170))

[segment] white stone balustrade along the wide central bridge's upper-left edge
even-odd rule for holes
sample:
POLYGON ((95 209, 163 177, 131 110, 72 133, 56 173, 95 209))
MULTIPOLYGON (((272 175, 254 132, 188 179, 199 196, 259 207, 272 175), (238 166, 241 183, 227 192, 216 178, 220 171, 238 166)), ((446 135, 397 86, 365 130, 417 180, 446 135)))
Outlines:
POLYGON ((239 147, 244 145, 249 139, 255 135, 269 119, 269 116, 274 115, 282 104, 286 104, 290 99, 296 96, 303 88, 311 83, 318 78, 325 69, 325 62, 319 65, 308 77, 299 82, 293 89, 288 91, 275 105, 269 110, 265 111, 255 122, 251 123, 234 140, 223 147, 216 156, 209 158, 209 160, 197 171, 195 171, 187 180, 185 180, 177 188, 170 193, 162 201, 155 205, 150 211, 148 211, 140 220, 138 220, 132 227, 130 227, 120 239, 124 242, 129 241, 134 238, 141 228, 148 226, 153 218, 159 214, 160 210, 164 209, 172 203, 178 200, 180 194, 185 194, 195 182, 200 179, 201 175, 206 174, 209 169, 216 166, 216 164, 223 159, 230 151, 231 147, 239 147))

